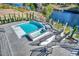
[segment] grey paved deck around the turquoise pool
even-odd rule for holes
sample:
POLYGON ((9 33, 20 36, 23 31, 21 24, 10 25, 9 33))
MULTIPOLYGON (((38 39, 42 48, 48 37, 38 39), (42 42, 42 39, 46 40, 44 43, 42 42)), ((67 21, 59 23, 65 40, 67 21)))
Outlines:
MULTIPOLYGON (((36 48, 36 46, 29 45, 31 42, 26 38, 23 37, 19 39, 11 28, 12 25, 24 22, 25 21, 0 25, 0 28, 5 29, 5 32, 0 32, 0 55, 30 56, 30 49, 36 48)), ((70 51, 62 47, 56 47, 52 52, 49 56, 70 56, 70 51)))

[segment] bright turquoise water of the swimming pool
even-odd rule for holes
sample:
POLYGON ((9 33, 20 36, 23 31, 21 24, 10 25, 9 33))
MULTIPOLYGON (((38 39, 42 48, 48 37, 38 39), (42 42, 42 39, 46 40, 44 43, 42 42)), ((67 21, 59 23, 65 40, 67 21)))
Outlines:
POLYGON ((27 34, 34 32, 43 27, 39 22, 30 21, 29 23, 24 23, 19 25, 27 34))

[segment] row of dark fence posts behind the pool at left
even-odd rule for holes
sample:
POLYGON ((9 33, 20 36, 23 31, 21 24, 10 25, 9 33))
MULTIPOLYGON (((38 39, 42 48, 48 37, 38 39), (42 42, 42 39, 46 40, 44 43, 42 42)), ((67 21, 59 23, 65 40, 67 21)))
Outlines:
POLYGON ((0 25, 11 23, 11 22, 16 22, 16 21, 27 21, 31 19, 35 19, 34 12, 20 13, 18 15, 16 15, 15 13, 8 14, 8 15, 0 16, 0 25))

